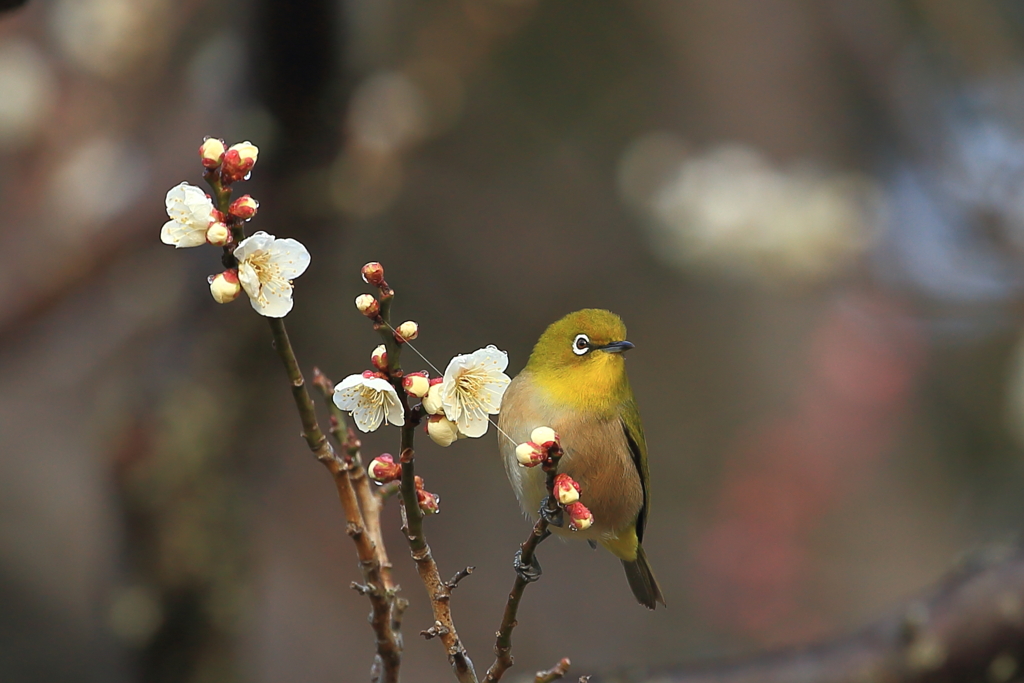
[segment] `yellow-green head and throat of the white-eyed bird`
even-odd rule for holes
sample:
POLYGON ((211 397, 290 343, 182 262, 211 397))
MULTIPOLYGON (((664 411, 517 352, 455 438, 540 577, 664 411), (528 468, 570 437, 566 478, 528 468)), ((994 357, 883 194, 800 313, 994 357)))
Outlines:
POLYGON ((621 317, 585 308, 544 331, 526 370, 555 402, 611 412, 630 395, 623 352, 631 348, 621 317))

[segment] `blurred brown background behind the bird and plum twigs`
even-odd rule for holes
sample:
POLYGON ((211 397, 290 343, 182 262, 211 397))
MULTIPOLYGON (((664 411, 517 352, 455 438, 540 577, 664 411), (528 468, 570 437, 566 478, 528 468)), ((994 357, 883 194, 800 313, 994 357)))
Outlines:
MULTIPOLYGON (((546 544, 511 680, 826 637, 1018 536, 1019 3, 32 0, 0 15, 4 681, 367 680, 266 325, 159 242, 205 135, 259 145, 250 229, 312 253, 307 373, 368 367, 369 260, 441 367, 625 317, 670 607, 546 544)), ((528 528, 493 434, 419 461, 478 669, 528 528)), ((406 679, 450 680, 385 524, 406 679)))

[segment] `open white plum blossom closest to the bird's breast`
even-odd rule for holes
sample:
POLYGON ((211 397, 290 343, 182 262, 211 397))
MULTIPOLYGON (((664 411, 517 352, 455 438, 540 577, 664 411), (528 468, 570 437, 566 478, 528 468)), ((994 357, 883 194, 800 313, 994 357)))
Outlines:
POLYGON ((494 346, 457 355, 449 362, 440 384, 441 407, 460 433, 474 438, 486 433, 487 416, 498 415, 512 381, 505 374, 508 365, 508 354, 494 346))

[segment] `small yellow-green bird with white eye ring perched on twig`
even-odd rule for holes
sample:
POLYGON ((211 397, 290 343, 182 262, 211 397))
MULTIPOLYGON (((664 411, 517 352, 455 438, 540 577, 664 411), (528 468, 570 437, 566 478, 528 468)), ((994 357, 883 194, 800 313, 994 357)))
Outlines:
MULTIPOLYGON (((547 496, 547 475, 523 468, 516 444, 534 429, 554 429, 563 455, 558 472, 582 487, 581 501, 594 515, 585 530, 550 527, 559 536, 595 542, 617 557, 637 601, 648 609, 665 597, 643 548, 650 504, 647 442, 624 353, 622 318, 608 310, 585 308, 551 324, 509 384, 498 427, 505 471, 523 511, 535 520, 547 496)), ((517 570, 519 567, 517 566, 517 570)))

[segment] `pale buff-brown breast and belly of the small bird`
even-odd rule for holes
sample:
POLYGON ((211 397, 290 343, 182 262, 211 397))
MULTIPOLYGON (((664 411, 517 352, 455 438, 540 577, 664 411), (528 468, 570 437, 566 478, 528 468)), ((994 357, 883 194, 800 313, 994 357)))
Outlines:
MULTIPOLYGON (((512 439, 498 436, 505 469, 527 514, 537 517, 546 494, 545 473, 540 467, 520 467, 515 446, 528 441, 537 427, 548 426, 558 432, 565 454, 558 471, 580 483, 581 501, 594 514, 594 525, 574 536, 601 539, 632 527, 643 506, 643 487, 617 415, 588 416, 552 404, 540 395, 524 371, 505 392, 499 426, 512 439)), ((569 531, 564 528, 556 532, 569 531)))

